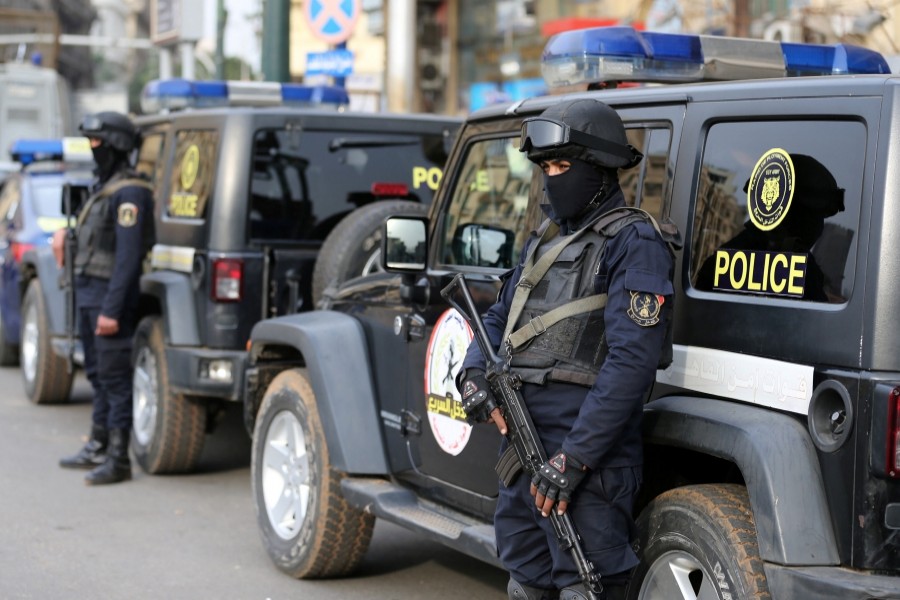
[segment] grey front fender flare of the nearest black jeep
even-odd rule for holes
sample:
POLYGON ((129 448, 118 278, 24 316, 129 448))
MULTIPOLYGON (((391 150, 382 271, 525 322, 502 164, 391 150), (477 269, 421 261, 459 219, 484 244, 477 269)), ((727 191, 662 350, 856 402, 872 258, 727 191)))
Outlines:
POLYGON ((267 346, 287 346, 303 355, 335 469, 357 475, 388 473, 368 345, 359 321, 316 310, 260 321, 250 339, 251 366, 267 346))

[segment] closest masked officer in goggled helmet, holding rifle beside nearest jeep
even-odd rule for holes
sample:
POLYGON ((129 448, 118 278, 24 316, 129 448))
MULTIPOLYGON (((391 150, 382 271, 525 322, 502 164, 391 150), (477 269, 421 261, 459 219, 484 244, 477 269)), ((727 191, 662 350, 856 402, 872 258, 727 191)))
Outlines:
MULTIPOLYGON (((548 219, 484 321, 522 379, 551 458, 533 480, 501 486, 500 559, 510 598, 585 598, 546 518, 568 510, 606 597, 624 598, 638 563, 632 508, 642 482, 643 402, 657 367, 671 360, 672 253, 649 215, 624 207, 617 169, 643 157, 612 108, 559 103, 523 123, 520 149, 544 172, 548 219)), ((470 422, 493 420, 505 433, 484 365, 473 344, 457 377, 463 405, 470 422)))

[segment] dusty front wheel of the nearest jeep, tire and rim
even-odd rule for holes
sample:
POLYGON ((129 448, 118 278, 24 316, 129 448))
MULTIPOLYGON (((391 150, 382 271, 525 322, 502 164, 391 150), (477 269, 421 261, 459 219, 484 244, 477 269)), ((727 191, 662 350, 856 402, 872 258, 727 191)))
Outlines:
POLYGON ((353 572, 375 518, 341 496, 316 398, 304 369, 280 373, 266 390, 253 432, 251 481, 263 543, 297 578, 353 572))

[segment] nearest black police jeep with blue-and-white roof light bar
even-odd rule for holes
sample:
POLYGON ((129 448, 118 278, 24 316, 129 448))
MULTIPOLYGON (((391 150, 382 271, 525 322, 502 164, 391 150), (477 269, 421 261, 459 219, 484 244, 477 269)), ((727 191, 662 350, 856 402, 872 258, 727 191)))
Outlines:
MULTIPOLYGON (((645 156, 626 198, 683 238, 629 597, 900 598, 900 78, 785 77, 887 73, 859 48, 621 28, 544 57, 551 85, 739 78, 576 92, 618 110, 645 156)), ((494 301, 541 218, 521 123, 559 100, 471 115, 429 217, 387 222, 399 262, 253 328, 253 498, 283 571, 351 572, 375 517, 498 563, 499 436, 465 422, 472 332, 440 291, 463 273, 494 301)))

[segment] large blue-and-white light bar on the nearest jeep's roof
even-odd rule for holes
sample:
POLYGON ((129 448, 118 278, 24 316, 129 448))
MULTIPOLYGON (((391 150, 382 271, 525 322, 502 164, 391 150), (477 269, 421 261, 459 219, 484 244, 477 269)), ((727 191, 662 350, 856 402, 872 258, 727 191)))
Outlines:
POLYGON ((848 44, 792 44, 622 26, 554 35, 544 47, 541 70, 551 88, 890 72, 881 54, 848 44))

